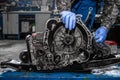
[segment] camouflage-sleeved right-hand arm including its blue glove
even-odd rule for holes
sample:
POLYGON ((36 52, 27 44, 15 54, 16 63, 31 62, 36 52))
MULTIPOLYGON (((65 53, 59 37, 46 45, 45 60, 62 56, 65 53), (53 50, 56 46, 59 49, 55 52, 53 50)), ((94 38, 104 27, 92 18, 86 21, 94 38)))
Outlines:
POLYGON ((117 15, 119 13, 118 6, 120 0, 106 0, 102 19, 101 27, 95 31, 95 40, 98 43, 103 43, 106 40, 108 30, 115 23, 117 15))

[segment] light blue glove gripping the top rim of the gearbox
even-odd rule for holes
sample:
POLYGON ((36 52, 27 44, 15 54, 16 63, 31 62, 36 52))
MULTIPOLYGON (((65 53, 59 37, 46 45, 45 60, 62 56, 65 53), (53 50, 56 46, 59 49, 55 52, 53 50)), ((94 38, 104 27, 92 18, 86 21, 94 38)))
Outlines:
POLYGON ((76 15, 70 11, 62 11, 62 21, 65 24, 65 28, 72 30, 75 28, 76 24, 76 15))

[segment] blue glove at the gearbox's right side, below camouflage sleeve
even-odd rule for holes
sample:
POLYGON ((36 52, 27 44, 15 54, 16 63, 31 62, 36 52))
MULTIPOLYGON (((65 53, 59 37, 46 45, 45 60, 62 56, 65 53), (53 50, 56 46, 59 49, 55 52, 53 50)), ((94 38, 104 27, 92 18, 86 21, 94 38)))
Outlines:
POLYGON ((108 29, 101 26, 95 31, 95 40, 97 43, 103 43, 106 40, 108 29))

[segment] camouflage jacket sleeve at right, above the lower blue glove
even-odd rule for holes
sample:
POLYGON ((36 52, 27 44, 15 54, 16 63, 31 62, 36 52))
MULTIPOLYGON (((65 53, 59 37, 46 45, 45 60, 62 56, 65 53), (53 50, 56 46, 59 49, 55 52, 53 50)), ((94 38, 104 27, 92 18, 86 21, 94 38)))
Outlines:
POLYGON ((118 7, 120 6, 120 0, 105 0, 103 13, 101 17, 101 25, 107 29, 115 23, 119 13, 118 7))

